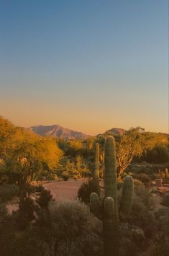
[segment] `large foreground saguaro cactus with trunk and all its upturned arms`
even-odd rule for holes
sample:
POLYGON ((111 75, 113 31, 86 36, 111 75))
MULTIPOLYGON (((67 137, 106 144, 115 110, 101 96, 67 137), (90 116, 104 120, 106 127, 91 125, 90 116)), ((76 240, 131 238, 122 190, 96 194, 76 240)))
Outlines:
POLYGON ((132 209, 134 183, 131 176, 125 177, 122 200, 118 208, 116 149, 112 136, 106 138, 104 165, 104 198, 101 202, 99 196, 92 193, 91 211, 103 220, 105 255, 117 256, 119 255, 119 220, 125 219, 132 209))

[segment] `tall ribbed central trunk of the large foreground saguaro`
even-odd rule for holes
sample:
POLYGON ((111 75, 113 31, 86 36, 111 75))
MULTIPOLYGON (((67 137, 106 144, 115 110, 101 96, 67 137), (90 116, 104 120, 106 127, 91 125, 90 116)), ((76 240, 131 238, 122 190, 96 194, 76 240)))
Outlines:
POLYGON ((112 136, 106 138, 104 159, 104 251, 106 256, 118 255, 119 212, 117 204, 116 147, 112 136), (108 213, 107 211, 111 211, 108 213), (112 254, 113 253, 113 254, 112 254))

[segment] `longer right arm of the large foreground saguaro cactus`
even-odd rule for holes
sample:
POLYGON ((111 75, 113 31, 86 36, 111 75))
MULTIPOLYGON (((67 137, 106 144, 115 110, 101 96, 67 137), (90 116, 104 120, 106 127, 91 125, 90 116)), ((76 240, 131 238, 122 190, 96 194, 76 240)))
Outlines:
POLYGON ((129 175, 125 177, 123 189, 122 189, 122 199, 120 202, 119 215, 121 219, 126 219, 132 210, 132 201, 134 193, 134 182, 133 178, 129 175))

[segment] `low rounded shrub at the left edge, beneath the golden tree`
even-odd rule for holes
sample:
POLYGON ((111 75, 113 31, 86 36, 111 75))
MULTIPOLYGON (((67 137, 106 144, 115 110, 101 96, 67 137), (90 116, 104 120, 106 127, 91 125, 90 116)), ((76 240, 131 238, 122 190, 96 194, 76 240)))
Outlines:
POLYGON ((18 195, 19 188, 17 185, 4 184, 0 186, 0 202, 6 202, 12 197, 18 195))

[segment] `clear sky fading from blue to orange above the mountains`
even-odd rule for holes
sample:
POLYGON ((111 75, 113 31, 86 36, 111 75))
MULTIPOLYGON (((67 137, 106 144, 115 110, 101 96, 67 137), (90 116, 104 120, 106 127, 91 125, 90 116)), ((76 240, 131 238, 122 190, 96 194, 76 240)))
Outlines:
POLYGON ((168 0, 0 0, 0 115, 168 133, 168 0))

